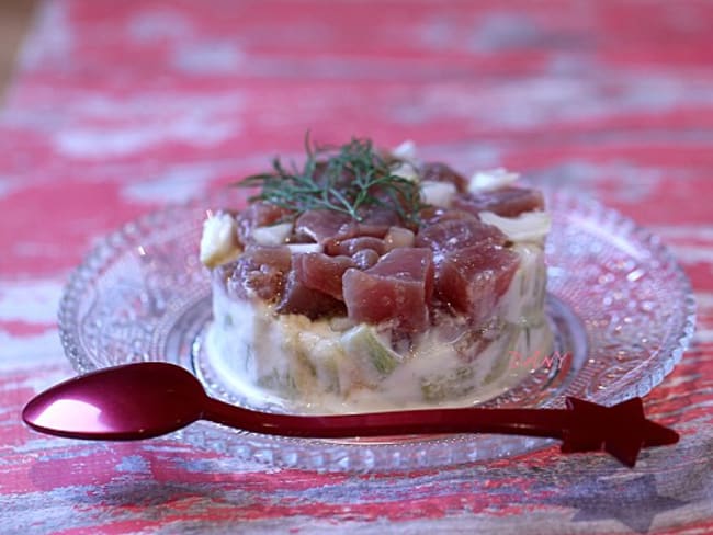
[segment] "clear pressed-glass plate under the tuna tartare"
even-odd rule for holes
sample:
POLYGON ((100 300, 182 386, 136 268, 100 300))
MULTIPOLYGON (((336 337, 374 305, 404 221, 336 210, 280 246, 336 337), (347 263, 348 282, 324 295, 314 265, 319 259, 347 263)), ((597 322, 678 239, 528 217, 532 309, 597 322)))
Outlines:
MULTIPOLYGON (((197 259, 206 209, 241 206, 240 194, 222 191, 150 214, 89 254, 72 274, 59 310, 61 342, 79 373, 167 361, 195 373, 212 396, 250 406, 203 352, 211 296, 197 259)), ((630 219, 591 201, 545 194, 553 216, 547 310, 556 352, 527 380, 485 405, 561 407, 565 396, 611 405, 644 396, 674 368, 692 337, 690 284, 659 239, 630 219)), ((173 436, 246 459, 328 471, 451 466, 518 455, 551 442, 467 434, 309 440, 210 422, 173 436)))

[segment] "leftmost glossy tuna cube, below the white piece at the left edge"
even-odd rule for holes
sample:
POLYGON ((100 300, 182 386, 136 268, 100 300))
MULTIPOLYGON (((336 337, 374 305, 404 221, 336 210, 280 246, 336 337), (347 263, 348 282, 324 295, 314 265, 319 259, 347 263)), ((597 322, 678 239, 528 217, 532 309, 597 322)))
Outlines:
POLYGON ((238 257, 228 291, 242 298, 257 295, 267 301, 276 300, 291 264, 287 247, 251 246, 238 257))

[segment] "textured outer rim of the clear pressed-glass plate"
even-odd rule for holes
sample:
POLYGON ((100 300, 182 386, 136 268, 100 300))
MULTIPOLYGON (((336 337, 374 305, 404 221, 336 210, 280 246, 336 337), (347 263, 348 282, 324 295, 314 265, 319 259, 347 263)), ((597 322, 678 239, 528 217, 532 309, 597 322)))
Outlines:
MULTIPOLYGON (((674 366, 681 360, 693 335, 695 326, 695 300, 686 273, 678 264, 670 250, 660 239, 637 225, 619 212, 603 206, 591 198, 579 198, 562 191, 543 189, 550 202, 559 209, 569 209, 585 216, 596 216, 598 221, 608 221, 622 234, 636 238, 642 244, 664 263, 675 276, 680 293, 684 296, 681 304, 683 312, 682 325, 677 329, 675 344, 654 361, 648 362, 650 368, 645 377, 637 377, 635 369, 620 377, 615 391, 609 390, 601 396, 593 395, 591 399, 606 401, 608 405, 633 396, 645 396, 653 387, 661 383, 674 366), (666 354, 663 354, 666 353, 666 354)), ((58 312, 59 337, 64 351, 80 373, 88 373, 101 367, 81 346, 80 341, 80 305, 87 292, 93 292, 92 283, 102 269, 111 264, 116 253, 133 240, 143 236, 143 230, 150 230, 157 223, 172 216, 179 216, 186 210, 215 206, 222 200, 223 192, 193 200, 189 203, 170 205, 157 212, 149 213, 134 221, 125 224, 116 231, 107 235, 95 246, 71 273, 65 287, 58 312)), ((320 447, 306 452, 304 439, 267 437, 253 433, 227 430, 208 422, 197 422, 183 431, 174 433, 178 440, 186 441, 199 447, 207 447, 223 453, 230 453, 245 459, 275 464, 285 467, 316 469, 320 471, 405 471, 468 463, 471 458, 461 452, 453 454, 452 447, 467 443, 468 435, 426 439, 420 443, 378 444, 378 443, 321 443, 320 447), (409 451, 404 451, 404 447, 409 451), (419 451, 419 447, 422 449, 419 451)), ((524 451, 544 446, 552 441, 543 439, 521 439, 524 451)), ((501 456, 508 456, 503 452, 501 456)))

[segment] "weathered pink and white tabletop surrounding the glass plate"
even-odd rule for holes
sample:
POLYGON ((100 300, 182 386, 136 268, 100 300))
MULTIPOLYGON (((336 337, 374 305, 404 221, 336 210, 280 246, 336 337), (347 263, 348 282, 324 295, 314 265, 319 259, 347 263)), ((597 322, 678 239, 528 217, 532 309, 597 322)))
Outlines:
POLYGON ((0 533, 713 532, 711 20, 665 0, 44 3, 0 115, 0 533), (73 374, 56 311, 91 246, 298 153, 307 129, 507 166, 657 232, 699 308, 645 399, 681 442, 635 469, 550 447, 359 475, 24 428, 23 403, 73 374))

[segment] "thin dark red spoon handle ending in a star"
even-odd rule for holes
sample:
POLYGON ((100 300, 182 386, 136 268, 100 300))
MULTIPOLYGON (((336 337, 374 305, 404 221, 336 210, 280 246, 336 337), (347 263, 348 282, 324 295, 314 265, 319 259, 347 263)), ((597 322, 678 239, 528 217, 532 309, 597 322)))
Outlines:
POLYGON ((500 433, 561 439, 562 452, 604 449, 627 466, 642 447, 678 442, 678 433, 644 417, 641 398, 613 407, 567 398, 566 409, 429 409, 367 414, 257 412, 210 399, 203 418, 246 431, 320 439, 438 433, 500 433))

